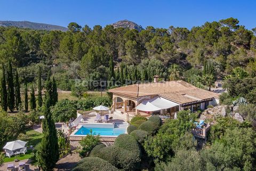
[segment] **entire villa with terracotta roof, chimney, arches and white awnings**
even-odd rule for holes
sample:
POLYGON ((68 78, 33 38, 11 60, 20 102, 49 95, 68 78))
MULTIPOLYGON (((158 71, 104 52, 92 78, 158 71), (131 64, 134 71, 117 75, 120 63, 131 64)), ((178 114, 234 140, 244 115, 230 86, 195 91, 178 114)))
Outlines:
POLYGON ((158 82, 158 76, 154 77, 154 83, 127 85, 109 92, 113 93, 114 111, 130 116, 157 113, 173 118, 179 110, 204 110, 210 104, 219 104, 217 93, 182 80, 158 82))

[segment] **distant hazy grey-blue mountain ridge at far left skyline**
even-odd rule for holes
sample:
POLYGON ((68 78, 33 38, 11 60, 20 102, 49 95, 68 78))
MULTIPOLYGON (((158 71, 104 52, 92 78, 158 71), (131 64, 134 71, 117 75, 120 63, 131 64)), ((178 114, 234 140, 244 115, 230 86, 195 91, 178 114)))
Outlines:
POLYGON ((47 25, 44 23, 36 23, 30 21, 0 21, 0 26, 3 27, 19 27, 19 28, 29 28, 35 30, 61 30, 67 31, 68 28, 55 25, 47 25))

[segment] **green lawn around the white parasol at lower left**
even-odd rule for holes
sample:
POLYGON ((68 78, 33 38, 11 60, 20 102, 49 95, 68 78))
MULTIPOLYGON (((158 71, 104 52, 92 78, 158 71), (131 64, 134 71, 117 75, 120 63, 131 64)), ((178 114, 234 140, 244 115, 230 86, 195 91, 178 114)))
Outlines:
MULTIPOLYGON (((43 137, 42 133, 38 133, 37 131, 34 131, 33 129, 28 129, 26 131, 26 134, 22 134, 19 137, 19 140, 22 141, 27 141, 28 143, 26 144, 27 147, 29 147, 30 145, 33 145, 33 147, 35 147, 39 142, 41 142, 43 137)), ((17 159, 19 160, 25 160, 25 159, 30 159, 34 157, 34 153, 33 150, 28 150, 28 152, 26 154, 20 154, 17 156, 17 159)), ((15 156, 12 156, 11 158, 9 157, 5 157, 4 158, 4 162, 10 162, 10 161, 14 161, 16 159, 15 156)))

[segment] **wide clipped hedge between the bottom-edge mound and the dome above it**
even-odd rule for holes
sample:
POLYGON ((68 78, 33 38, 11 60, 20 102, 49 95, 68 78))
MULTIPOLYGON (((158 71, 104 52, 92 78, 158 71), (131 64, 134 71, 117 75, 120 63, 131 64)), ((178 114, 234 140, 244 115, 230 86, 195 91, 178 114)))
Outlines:
POLYGON ((140 162, 140 157, 136 153, 115 145, 102 148, 98 153, 90 154, 90 157, 99 157, 122 170, 135 170, 140 162))

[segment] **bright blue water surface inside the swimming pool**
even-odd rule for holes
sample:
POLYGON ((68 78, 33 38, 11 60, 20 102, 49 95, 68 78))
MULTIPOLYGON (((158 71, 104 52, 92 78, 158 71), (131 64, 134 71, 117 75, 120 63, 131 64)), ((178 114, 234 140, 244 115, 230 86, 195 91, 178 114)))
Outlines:
POLYGON ((75 133, 75 135, 87 135, 90 134, 90 130, 92 129, 92 133, 95 135, 102 136, 118 136, 120 134, 124 134, 125 128, 91 128, 91 127, 81 127, 75 133))

